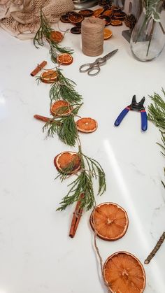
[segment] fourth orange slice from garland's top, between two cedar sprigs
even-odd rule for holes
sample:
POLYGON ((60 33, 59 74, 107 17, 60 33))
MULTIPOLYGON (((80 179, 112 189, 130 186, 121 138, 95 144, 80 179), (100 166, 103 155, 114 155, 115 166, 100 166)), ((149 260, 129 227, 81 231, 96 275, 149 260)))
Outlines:
POLYGON ((69 105, 69 102, 59 100, 52 103, 50 113, 52 115, 68 115, 71 113, 71 110, 73 110, 73 107, 69 105))

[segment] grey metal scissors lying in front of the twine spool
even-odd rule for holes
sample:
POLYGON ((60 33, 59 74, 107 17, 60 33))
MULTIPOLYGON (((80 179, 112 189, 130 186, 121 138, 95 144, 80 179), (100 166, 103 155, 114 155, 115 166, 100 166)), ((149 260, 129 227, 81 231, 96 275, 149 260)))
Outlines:
POLYGON ((112 52, 108 53, 104 57, 97 58, 93 63, 87 63, 80 66, 80 72, 87 72, 89 76, 96 76, 100 72, 100 66, 106 64, 106 61, 112 57, 118 49, 113 50, 112 52), (85 68, 85 69, 83 69, 85 68), (94 72, 94 73, 92 73, 94 72))

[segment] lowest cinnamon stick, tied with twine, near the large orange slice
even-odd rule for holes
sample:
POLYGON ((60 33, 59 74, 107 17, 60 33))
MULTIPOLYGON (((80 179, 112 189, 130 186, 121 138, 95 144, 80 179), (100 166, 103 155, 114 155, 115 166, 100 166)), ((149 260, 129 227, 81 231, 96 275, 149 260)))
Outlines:
POLYGON ((73 238, 76 234, 76 230, 78 229, 78 224, 80 222, 80 217, 82 216, 82 210, 83 208, 81 208, 81 199, 83 199, 83 197, 85 196, 84 193, 80 194, 80 200, 76 203, 76 209, 73 213, 73 218, 71 221, 71 228, 69 231, 69 236, 71 238, 73 238))

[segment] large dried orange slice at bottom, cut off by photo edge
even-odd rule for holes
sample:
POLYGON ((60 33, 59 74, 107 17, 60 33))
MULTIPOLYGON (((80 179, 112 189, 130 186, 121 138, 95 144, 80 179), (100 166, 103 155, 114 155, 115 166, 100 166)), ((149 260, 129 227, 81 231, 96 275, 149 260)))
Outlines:
POLYGON ((106 259, 103 276, 112 293, 142 293, 145 271, 141 262, 129 252, 116 252, 106 259))

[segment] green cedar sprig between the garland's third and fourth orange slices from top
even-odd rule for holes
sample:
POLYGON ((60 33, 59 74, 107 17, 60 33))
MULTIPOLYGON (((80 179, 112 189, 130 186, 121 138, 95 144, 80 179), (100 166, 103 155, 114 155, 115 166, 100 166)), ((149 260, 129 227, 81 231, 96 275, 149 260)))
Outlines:
POLYGON ((82 96, 75 90, 76 83, 73 80, 66 78, 62 74, 61 69, 57 69, 58 80, 52 84, 50 88, 50 99, 51 101, 57 101, 63 99, 69 103, 80 103, 82 96))

